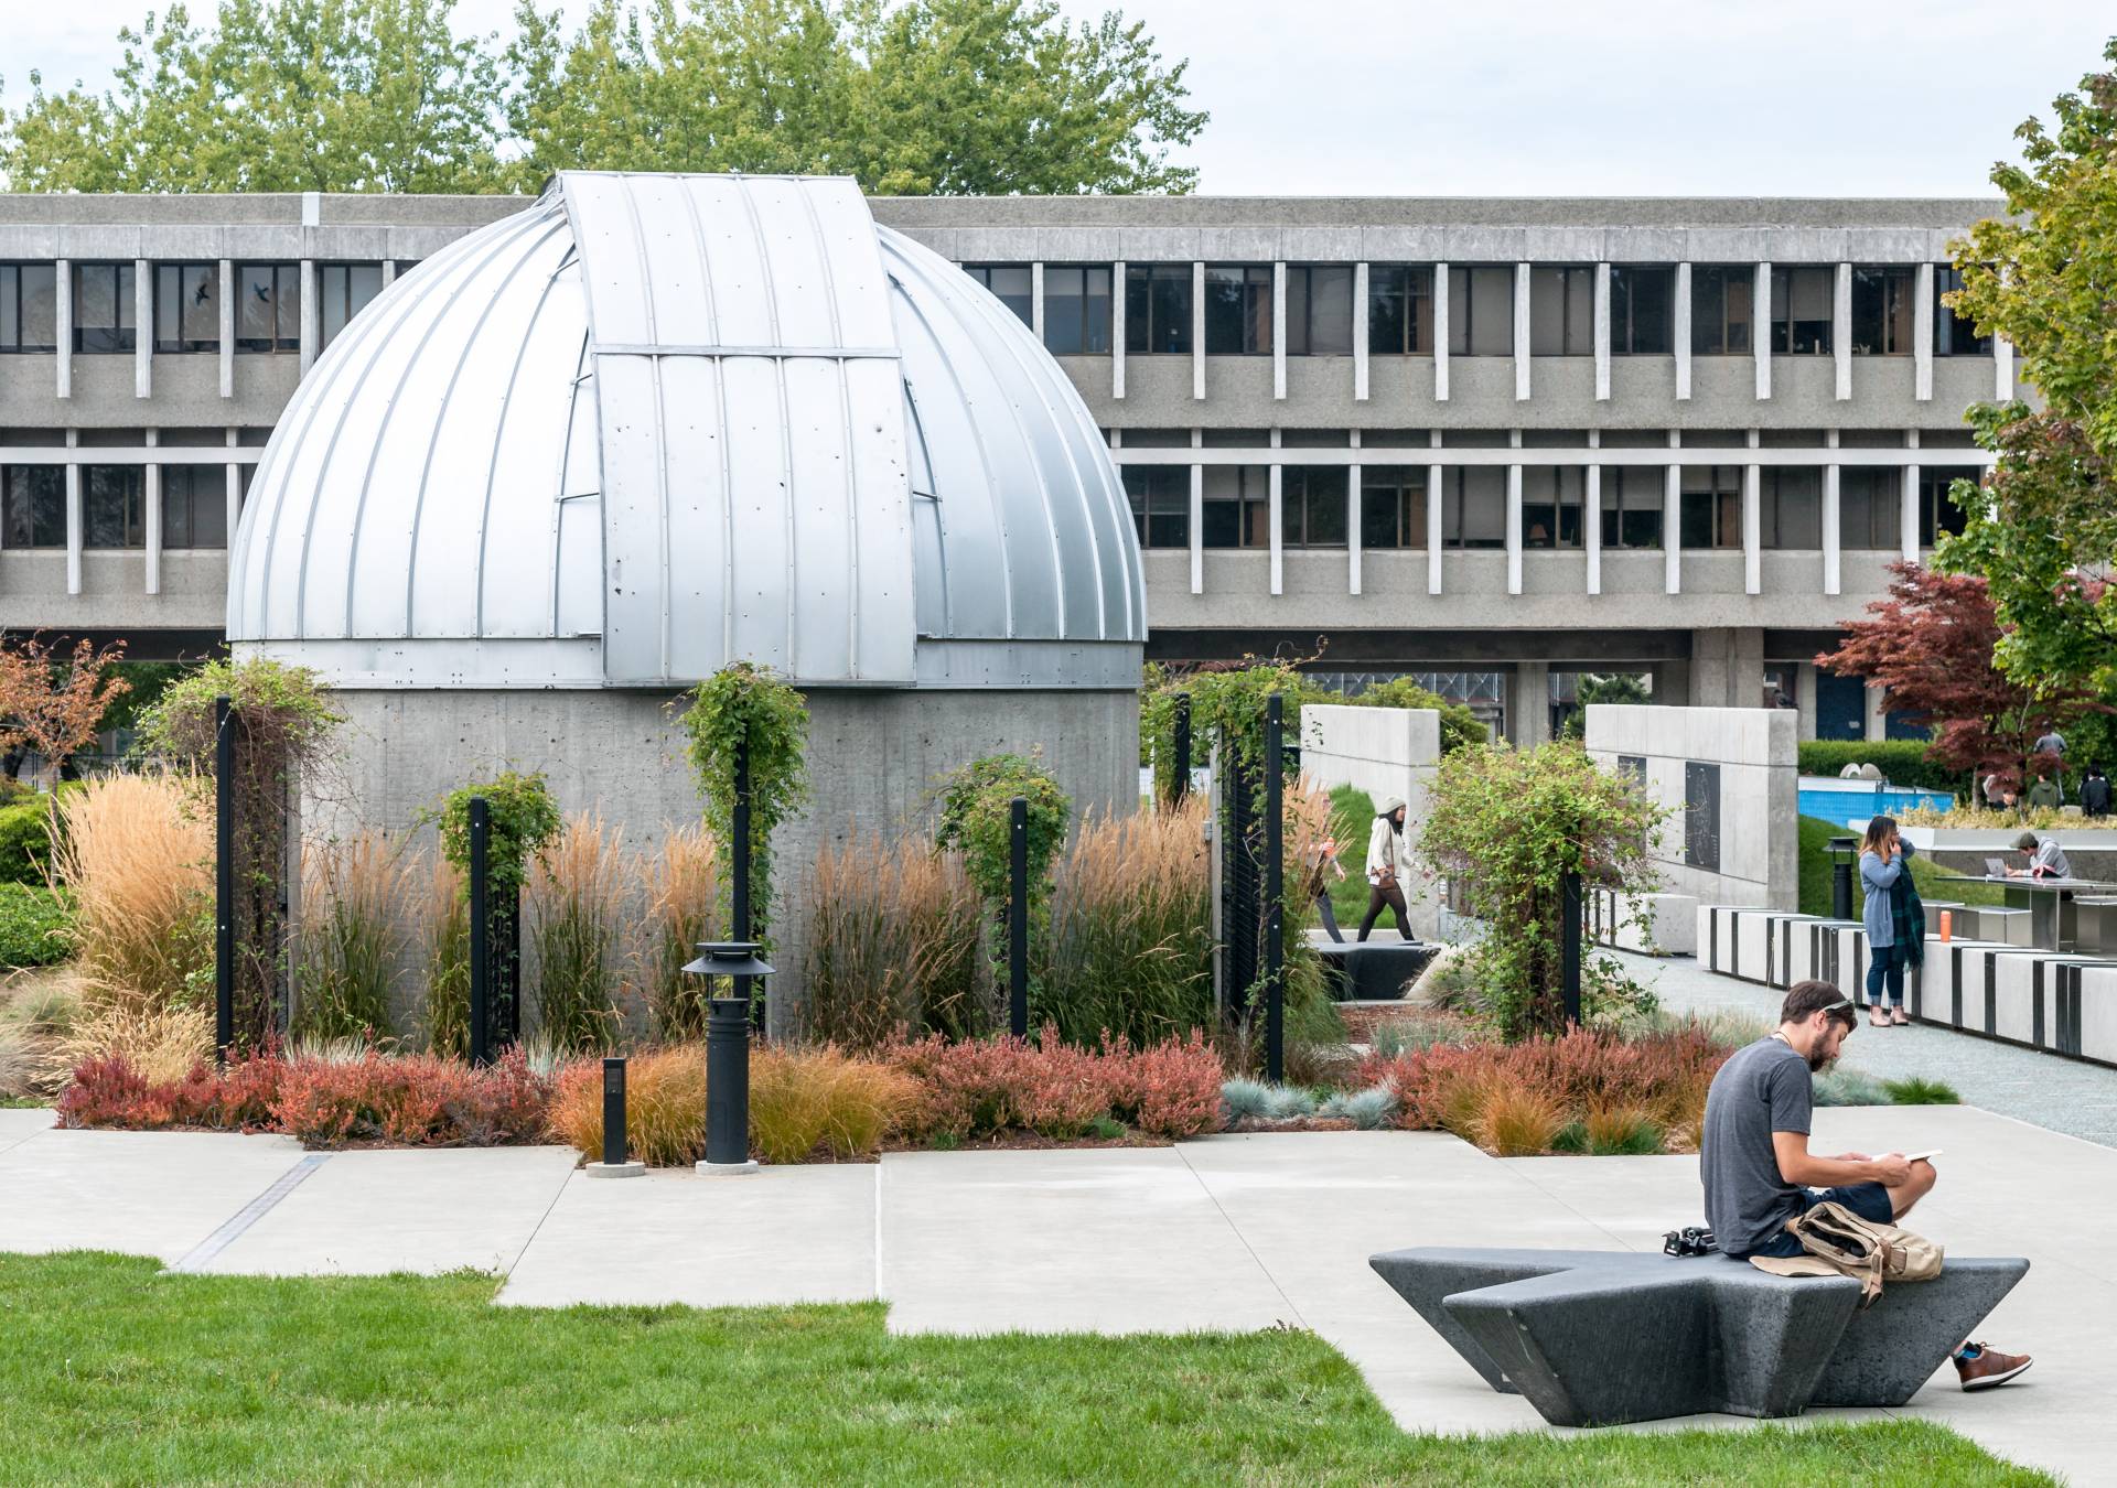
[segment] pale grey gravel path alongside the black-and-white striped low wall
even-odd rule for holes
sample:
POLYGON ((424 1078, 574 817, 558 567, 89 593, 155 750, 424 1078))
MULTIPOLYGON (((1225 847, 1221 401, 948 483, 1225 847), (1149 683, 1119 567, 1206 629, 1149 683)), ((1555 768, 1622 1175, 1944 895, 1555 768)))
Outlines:
MULTIPOLYGON (((1770 986, 1706 972, 1689 957, 1611 955, 1651 982, 1670 1012, 1727 1008, 1770 1020, 1785 997, 1770 986)), ((1842 1060, 1878 1079, 1946 1079, 1969 1105, 2117 1147, 2117 1069, 1916 1022, 1907 1029, 1869 1029, 1865 1018, 1846 1039, 1842 1060)))

